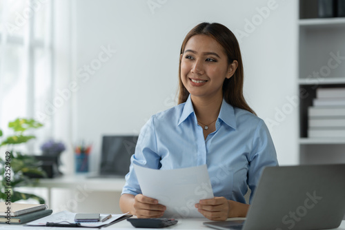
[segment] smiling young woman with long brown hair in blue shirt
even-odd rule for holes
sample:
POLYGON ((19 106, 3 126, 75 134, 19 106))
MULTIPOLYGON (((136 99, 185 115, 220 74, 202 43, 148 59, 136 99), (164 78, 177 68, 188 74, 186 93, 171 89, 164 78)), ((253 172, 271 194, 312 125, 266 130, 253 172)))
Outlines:
MULTIPOLYGON (((177 169, 206 164, 215 198, 195 208, 210 220, 244 217, 266 166, 276 166, 264 121, 243 96, 243 65, 235 35, 219 23, 187 34, 179 60, 179 105, 155 114, 141 129, 131 164, 177 169)), ((138 218, 158 218, 166 207, 141 194, 130 166, 120 207, 138 218)))

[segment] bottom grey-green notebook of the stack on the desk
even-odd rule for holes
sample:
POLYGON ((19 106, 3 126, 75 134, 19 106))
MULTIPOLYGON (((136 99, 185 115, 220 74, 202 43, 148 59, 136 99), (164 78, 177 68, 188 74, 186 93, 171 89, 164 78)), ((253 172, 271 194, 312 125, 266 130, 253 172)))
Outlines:
POLYGON ((40 211, 34 211, 26 213, 20 216, 0 216, 0 224, 24 224, 32 220, 37 220, 45 216, 49 216, 52 213, 52 209, 43 209, 40 211))

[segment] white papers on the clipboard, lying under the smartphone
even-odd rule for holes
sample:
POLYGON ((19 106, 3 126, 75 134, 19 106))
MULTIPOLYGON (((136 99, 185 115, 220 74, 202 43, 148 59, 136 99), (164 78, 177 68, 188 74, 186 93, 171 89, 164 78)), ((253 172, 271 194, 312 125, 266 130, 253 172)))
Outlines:
MULTIPOLYGON (((75 214, 70 211, 60 211, 58 213, 53 213, 50 216, 46 216, 43 218, 40 218, 38 220, 34 220, 32 222, 28 222, 27 225, 42 225, 45 226, 47 222, 61 222, 61 224, 67 224, 67 223, 76 223, 75 222, 75 214)), ((126 214, 112 214, 112 217, 108 220, 105 220, 103 222, 80 222, 81 226, 83 227, 101 227, 104 224, 109 224, 110 222, 117 220, 118 218, 121 218, 121 216, 124 216, 126 214)), ((101 219, 108 216, 108 214, 101 214, 101 219)), ((63 228, 62 228, 63 229, 63 228)))

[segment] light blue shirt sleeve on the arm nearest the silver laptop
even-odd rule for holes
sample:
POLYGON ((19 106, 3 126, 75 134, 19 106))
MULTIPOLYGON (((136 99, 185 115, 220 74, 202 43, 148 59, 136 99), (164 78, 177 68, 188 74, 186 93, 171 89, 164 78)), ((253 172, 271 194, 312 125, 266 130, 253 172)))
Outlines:
POLYGON ((250 152, 248 187, 252 191, 250 203, 255 193, 262 170, 266 166, 278 166, 275 146, 264 121, 260 121, 253 136, 253 151, 250 152))

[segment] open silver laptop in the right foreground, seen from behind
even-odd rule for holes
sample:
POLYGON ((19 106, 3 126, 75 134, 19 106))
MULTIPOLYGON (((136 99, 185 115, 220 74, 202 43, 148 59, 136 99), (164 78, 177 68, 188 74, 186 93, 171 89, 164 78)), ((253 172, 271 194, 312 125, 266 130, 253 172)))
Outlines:
POLYGON ((345 165, 266 167, 246 220, 204 222, 214 229, 333 229, 345 214, 345 165))

